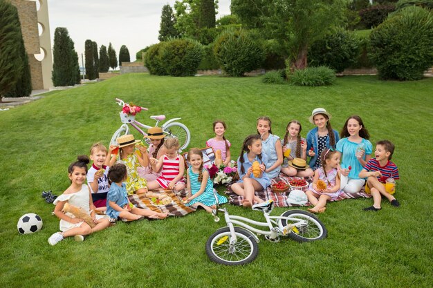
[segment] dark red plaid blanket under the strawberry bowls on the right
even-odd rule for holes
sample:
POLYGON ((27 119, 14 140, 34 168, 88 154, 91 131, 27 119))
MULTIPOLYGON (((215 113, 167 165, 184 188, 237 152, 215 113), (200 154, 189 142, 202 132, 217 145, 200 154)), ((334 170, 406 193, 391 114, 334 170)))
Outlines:
MULTIPOLYGON (((259 198, 265 201, 272 199, 275 202, 275 207, 311 206, 310 202, 306 202, 306 204, 304 205, 288 203, 287 196, 290 191, 288 191, 287 193, 278 193, 278 192, 275 193, 272 191, 272 184, 277 183, 279 181, 283 181, 286 184, 288 184, 288 182, 292 179, 293 177, 288 177, 284 173, 279 173, 278 177, 275 177, 270 180, 271 184, 266 190, 256 191, 255 195, 257 195, 259 198)), ((304 178, 304 179, 308 181, 308 183, 311 183, 313 177, 304 178)), ((230 204, 239 205, 239 206, 242 205, 243 197, 235 194, 231 189, 231 185, 227 187, 224 193, 225 195, 227 195, 230 204)), ((365 193, 364 188, 362 188, 361 191, 358 193, 342 193, 336 200, 333 201, 340 201, 344 199, 356 199, 356 198, 371 198, 371 195, 365 193)))

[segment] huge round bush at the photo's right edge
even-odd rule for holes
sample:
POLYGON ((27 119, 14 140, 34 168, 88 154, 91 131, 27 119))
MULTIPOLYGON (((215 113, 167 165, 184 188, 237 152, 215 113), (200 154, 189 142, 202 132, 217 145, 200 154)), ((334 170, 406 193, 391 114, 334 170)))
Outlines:
POLYGON ((381 79, 416 80, 433 64, 433 14, 416 6, 394 13, 370 35, 381 79))

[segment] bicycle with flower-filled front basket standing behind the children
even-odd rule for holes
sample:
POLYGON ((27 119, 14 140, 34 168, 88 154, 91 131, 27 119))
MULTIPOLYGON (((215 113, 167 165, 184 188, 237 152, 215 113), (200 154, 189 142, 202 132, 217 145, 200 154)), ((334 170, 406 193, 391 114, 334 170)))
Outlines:
MULTIPOLYGON (((111 141, 110 144, 118 144, 116 139, 121 136, 121 135, 125 135, 129 133, 129 125, 133 126, 133 128, 136 128, 138 132, 140 132, 142 135, 147 135, 147 133, 145 133, 145 131, 142 131, 142 128, 146 128, 149 129, 153 126, 149 126, 146 124, 142 124, 140 122, 138 122, 135 118, 135 115, 131 115, 128 113, 124 113, 124 109, 125 106, 128 106, 129 109, 129 104, 125 104, 125 102, 121 99, 116 98, 116 102, 118 102, 119 106, 122 106, 122 111, 120 111, 120 121, 123 123, 122 126, 120 126, 120 128, 118 128, 118 130, 113 134, 113 137, 111 137, 111 141)), ((148 110, 147 108, 144 107, 140 107, 140 110, 148 110)), ((140 111, 138 111, 140 112, 140 111)), ((154 126, 158 126, 159 122, 164 121, 165 120, 165 115, 154 115, 154 116, 150 116, 150 119, 154 119, 156 121, 156 124, 154 126)), ((182 123, 179 122, 174 122, 178 119, 181 118, 173 118, 173 119, 169 119, 167 122, 165 122, 161 128, 163 128, 163 133, 167 136, 167 137, 176 137, 178 138, 179 141, 179 149, 183 150, 185 148, 187 148, 188 144, 190 144, 190 140, 191 140, 191 134, 190 131, 188 130, 187 126, 185 126, 182 123)), ((147 144, 150 144, 149 139, 146 139, 147 144)))

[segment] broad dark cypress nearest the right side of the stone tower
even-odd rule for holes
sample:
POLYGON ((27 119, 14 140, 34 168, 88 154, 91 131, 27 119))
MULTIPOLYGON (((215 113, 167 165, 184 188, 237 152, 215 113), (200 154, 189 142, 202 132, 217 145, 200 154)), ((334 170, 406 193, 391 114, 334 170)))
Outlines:
POLYGON ((53 46, 53 85, 73 86, 77 84, 78 56, 74 43, 66 28, 57 27, 53 46))

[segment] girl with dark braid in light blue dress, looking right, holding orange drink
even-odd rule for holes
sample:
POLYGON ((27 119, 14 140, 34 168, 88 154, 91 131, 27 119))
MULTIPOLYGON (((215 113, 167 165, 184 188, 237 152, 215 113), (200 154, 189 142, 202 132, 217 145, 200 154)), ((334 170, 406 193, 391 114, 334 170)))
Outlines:
MULTIPOLYGON (((281 144, 280 149, 281 149, 281 144)), ((266 161, 268 157, 261 153, 260 135, 249 135, 243 141, 241 155, 237 160, 237 172, 239 181, 232 184, 232 191, 243 196, 243 207, 252 207, 252 204, 264 202, 255 195, 255 191, 263 191, 270 185, 270 179, 266 174, 266 161), (243 153, 246 151, 246 153, 243 153), (252 163, 259 162, 261 173, 258 177, 252 173, 252 163)))

